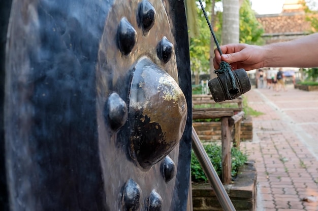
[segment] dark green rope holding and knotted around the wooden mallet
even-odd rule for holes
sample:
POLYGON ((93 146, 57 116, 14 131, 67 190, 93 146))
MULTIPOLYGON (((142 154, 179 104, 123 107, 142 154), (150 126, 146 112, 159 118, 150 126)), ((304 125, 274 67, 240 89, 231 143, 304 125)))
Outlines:
MULTIPOLYGON (((215 36, 214 30, 213 30, 213 28, 212 28, 212 26, 211 26, 211 23, 210 23, 210 21, 209 21, 208 15, 206 14, 205 9, 204 9, 204 7, 203 7, 203 5, 202 5, 202 1, 199 0, 199 3, 200 3, 200 5, 201 5, 201 9, 202 9, 202 11, 203 11, 203 14, 204 14, 204 17, 205 17, 205 19, 206 19, 206 22, 207 22, 208 25, 209 25, 209 28, 210 28, 211 34, 212 34, 212 36, 213 36, 213 39, 214 39, 216 48, 217 48, 218 52, 220 53, 220 55, 222 55, 222 50, 221 50, 221 48, 220 48, 220 45, 218 44, 217 38, 216 38, 216 36, 215 36)), ((220 68, 219 68, 218 70, 215 70, 215 73, 217 74, 217 76, 220 75, 220 74, 225 73, 225 74, 226 74, 226 77, 227 77, 227 80, 228 80, 229 78, 231 79, 231 83, 232 83, 232 88, 233 88, 233 90, 236 90, 236 89, 237 89, 236 83, 235 83, 235 78, 234 78, 234 75, 233 75, 233 72, 232 72, 232 69, 231 69, 231 65, 230 65, 229 63, 227 63, 227 62, 225 62, 225 61, 221 61, 221 62, 220 62, 220 68)), ((226 83, 226 84, 227 84, 227 86, 228 86, 228 83, 226 83)), ((230 96, 228 87, 227 87, 227 91, 228 91, 228 95, 230 96)))

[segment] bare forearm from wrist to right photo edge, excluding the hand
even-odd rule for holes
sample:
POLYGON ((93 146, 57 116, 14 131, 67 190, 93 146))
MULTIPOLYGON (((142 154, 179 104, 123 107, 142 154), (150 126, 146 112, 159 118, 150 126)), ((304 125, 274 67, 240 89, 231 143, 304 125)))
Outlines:
POLYGON ((318 67, 318 33, 264 46, 264 67, 318 67))

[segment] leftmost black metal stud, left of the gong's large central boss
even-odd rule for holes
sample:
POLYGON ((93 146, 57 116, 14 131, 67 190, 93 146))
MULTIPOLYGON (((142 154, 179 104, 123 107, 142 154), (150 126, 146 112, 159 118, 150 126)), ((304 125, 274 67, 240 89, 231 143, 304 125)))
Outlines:
POLYGON ((108 97, 105 107, 105 114, 108 116, 109 124, 113 130, 118 130, 128 118, 128 108, 117 93, 112 93, 108 97))

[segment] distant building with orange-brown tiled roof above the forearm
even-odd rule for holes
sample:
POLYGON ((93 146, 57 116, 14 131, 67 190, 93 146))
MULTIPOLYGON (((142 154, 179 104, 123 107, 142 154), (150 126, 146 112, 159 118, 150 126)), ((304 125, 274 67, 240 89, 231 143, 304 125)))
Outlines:
POLYGON ((303 0, 285 0, 279 14, 256 15, 264 27, 266 44, 295 39, 310 33, 303 0))

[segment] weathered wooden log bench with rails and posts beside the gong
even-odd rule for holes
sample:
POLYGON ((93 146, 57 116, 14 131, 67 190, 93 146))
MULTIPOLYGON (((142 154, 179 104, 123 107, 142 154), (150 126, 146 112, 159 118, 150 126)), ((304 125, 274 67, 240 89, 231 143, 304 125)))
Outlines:
MULTIPOLYGON (((216 104, 212 96, 207 95, 193 95, 193 104, 216 104)), ((241 120, 244 117, 242 108, 242 98, 237 98, 231 101, 221 102, 221 104, 234 103, 237 107, 212 107, 212 108, 194 108, 192 111, 193 119, 221 119, 221 144, 222 144, 222 182, 230 184, 231 177, 231 141, 232 130, 235 129, 233 146, 239 148, 240 146, 240 133, 241 133, 241 120), (234 126, 234 127, 233 127, 234 126)))

